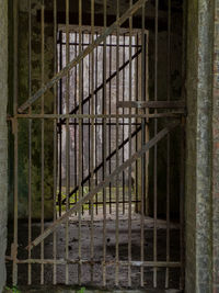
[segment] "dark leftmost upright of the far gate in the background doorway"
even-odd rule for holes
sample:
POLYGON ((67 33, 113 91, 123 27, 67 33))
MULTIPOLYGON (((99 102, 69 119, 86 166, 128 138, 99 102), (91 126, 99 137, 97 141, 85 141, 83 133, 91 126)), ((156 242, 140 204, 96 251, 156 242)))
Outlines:
MULTIPOLYGON (((59 56, 59 70, 62 69, 62 32, 59 32, 59 45, 60 45, 60 56, 59 56)), ((59 81, 59 114, 62 114, 62 79, 59 81)), ((59 120, 59 193, 58 193, 58 203, 59 203, 59 216, 61 216, 61 188, 62 188, 62 120, 59 120)))

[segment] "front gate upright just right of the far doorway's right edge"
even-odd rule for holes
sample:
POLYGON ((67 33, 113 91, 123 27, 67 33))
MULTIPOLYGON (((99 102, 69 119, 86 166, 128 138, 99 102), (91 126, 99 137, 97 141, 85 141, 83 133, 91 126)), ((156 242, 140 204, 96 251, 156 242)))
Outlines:
MULTIPOLYGON (((154 101, 158 101, 158 9, 159 0, 155 0, 155 44, 154 44, 154 101)), ((157 113, 157 110, 154 111, 157 113)), ((154 136, 158 133, 158 119, 154 119, 154 136)), ((153 261, 157 261, 157 241, 158 241, 158 146, 154 146, 154 158, 153 158, 153 261)), ((153 286, 157 288, 157 268, 153 268, 153 286)))

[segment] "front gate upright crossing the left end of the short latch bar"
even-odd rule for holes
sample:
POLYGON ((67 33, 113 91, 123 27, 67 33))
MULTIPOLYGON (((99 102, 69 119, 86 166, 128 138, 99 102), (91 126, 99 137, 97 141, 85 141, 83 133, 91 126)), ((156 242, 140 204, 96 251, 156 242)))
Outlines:
MULTIPOLYGON (((116 19, 119 19, 120 9, 119 0, 116 1, 116 19)), ((116 103, 119 101, 119 26, 116 30, 116 103)), ((118 149, 118 139, 119 139, 119 120, 118 120, 118 108, 116 108, 116 169, 119 166, 119 149, 118 149)), ((115 284, 118 286, 119 282, 119 188, 118 188, 118 174, 116 176, 116 272, 115 272, 115 284)))

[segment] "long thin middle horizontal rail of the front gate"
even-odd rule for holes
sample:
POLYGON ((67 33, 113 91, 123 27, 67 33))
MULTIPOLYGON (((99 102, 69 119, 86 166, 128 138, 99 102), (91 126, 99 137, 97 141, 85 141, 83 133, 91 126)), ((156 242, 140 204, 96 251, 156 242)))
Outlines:
MULTIPOLYGON (((18 114, 15 119, 159 119, 159 117, 180 117, 184 115, 184 111, 168 112, 168 113, 157 113, 157 114, 18 114)), ((13 120, 13 117, 8 117, 8 120, 13 120)))

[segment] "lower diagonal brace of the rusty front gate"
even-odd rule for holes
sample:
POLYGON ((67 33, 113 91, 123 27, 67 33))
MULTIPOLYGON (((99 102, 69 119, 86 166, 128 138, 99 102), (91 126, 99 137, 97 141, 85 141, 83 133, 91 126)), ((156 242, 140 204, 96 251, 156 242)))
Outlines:
POLYGON ((174 122, 168 127, 160 131, 152 139, 150 139, 142 148, 137 151, 135 155, 127 159, 124 164, 122 164, 113 173, 105 178, 97 187, 95 187, 92 191, 90 191, 85 196, 81 199, 73 207, 71 207, 66 214, 59 217, 56 222, 54 222, 45 232, 39 235, 34 241, 32 241, 26 249, 32 249, 34 246, 41 244, 48 235, 50 235, 54 230, 58 228, 58 226, 70 217, 71 214, 78 212, 84 203, 90 201, 96 193, 99 193, 103 188, 107 187, 110 182, 113 182, 119 172, 123 172, 127 167, 129 167, 132 162, 135 162, 138 158, 140 158, 146 151, 148 151, 151 147, 153 147, 158 142, 160 142, 168 133, 170 133, 173 128, 175 128, 180 122, 174 122))

